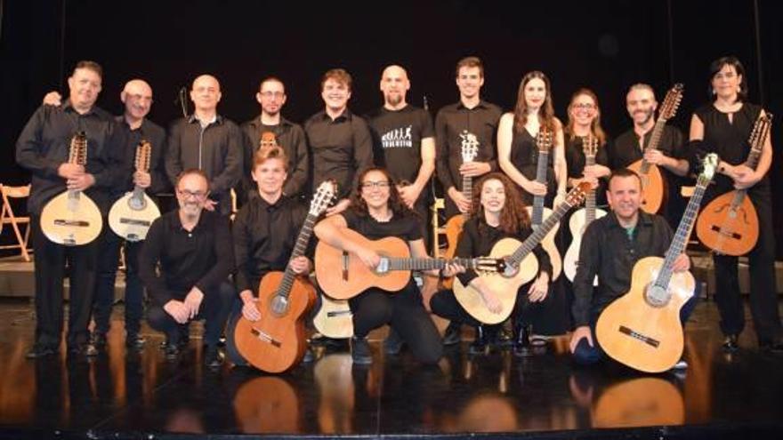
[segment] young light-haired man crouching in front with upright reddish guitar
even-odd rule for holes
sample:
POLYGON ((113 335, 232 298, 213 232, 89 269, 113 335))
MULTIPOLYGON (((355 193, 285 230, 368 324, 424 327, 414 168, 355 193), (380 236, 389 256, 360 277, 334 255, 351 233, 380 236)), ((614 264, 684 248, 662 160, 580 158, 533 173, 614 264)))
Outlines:
POLYGON ((289 264, 295 274, 307 274, 312 268, 306 256, 289 263, 307 210, 295 197, 283 194, 288 164, 283 148, 264 147, 255 152, 252 177, 256 187, 234 220, 234 283, 239 298, 234 300, 226 331, 226 351, 234 364, 246 363, 233 338, 239 314, 250 321, 261 318, 255 302, 262 277, 272 271, 284 271, 289 264))

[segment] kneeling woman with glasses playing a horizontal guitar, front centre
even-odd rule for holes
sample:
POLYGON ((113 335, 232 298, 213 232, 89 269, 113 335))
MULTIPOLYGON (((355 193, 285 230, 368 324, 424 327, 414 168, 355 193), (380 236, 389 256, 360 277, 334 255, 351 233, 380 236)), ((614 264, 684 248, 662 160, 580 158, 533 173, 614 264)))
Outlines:
MULTIPOLYGON (((322 220, 315 227, 321 242, 356 255, 367 268, 376 268, 381 257, 372 249, 348 236, 348 229, 370 240, 396 236, 403 239, 414 258, 427 258, 422 239, 420 220, 400 199, 395 182, 383 168, 370 168, 359 176, 348 210, 322 220)), ((317 258, 317 264, 322 264, 317 258)), ((335 260, 334 270, 341 262, 335 260)), ((437 273, 437 271, 433 271, 437 273)), ((454 267, 444 273, 453 275, 454 267)), ((346 274, 350 276, 350 274, 346 274)), ((320 282, 320 281, 319 281, 320 282)), ((422 303, 422 295, 411 277, 399 292, 384 292, 370 287, 349 300, 353 314, 351 357, 354 364, 371 364, 372 354, 367 344, 367 333, 383 324, 399 333, 413 356, 424 364, 435 364, 442 347, 440 334, 422 303)))

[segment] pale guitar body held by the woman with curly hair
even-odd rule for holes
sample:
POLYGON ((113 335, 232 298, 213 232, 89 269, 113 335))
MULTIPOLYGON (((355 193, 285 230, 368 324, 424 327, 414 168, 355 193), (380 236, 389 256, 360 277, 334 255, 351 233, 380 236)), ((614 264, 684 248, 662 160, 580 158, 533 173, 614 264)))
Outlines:
MULTIPOLYGON (((498 241, 489 253, 490 258, 503 259, 511 255, 520 247, 521 243, 513 238, 504 238, 498 241)), ((499 324, 511 315, 517 300, 517 291, 522 284, 528 283, 538 274, 538 260, 531 252, 521 261, 520 267, 515 272, 508 266, 503 273, 481 274, 481 278, 488 284, 492 292, 496 292, 497 299, 502 304, 499 313, 492 313, 484 305, 480 293, 470 285, 463 285, 459 278, 455 277, 454 296, 459 304, 474 318, 484 324, 499 324)))

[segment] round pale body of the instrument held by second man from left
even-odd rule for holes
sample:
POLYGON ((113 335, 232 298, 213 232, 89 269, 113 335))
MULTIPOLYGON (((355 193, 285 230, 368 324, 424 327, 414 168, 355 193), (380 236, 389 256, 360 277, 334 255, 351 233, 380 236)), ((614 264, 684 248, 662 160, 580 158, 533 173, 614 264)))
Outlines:
POLYGON ((160 217, 160 210, 149 196, 141 193, 140 198, 134 198, 133 192, 125 194, 117 200, 109 211, 109 227, 117 236, 129 242, 137 242, 147 237, 152 221, 160 217), (134 206, 138 204, 138 206, 134 206))

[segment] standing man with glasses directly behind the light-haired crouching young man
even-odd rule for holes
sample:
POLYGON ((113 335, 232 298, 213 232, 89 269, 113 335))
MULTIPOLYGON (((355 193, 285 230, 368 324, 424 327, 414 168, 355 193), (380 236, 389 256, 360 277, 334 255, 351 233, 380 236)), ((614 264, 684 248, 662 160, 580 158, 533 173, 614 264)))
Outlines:
POLYGON ((244 191, 241 197, 243 203, 247 196, 256 191, 251 178, 253 156, 260 146, 262 134, 272 132, 278 145, 286 151, 288 157, 287 179, 283 186, 283 194, 289 197, 302 196, 307 184, 310 154, 304 130, 299 124, 294 124, 280 115, 280 110, 286 104, 286 88, 278 78, 270 76, 261 82, 255 100, 261 104, 261 115, 242 124, 242 134, 245 140, 244 191))

